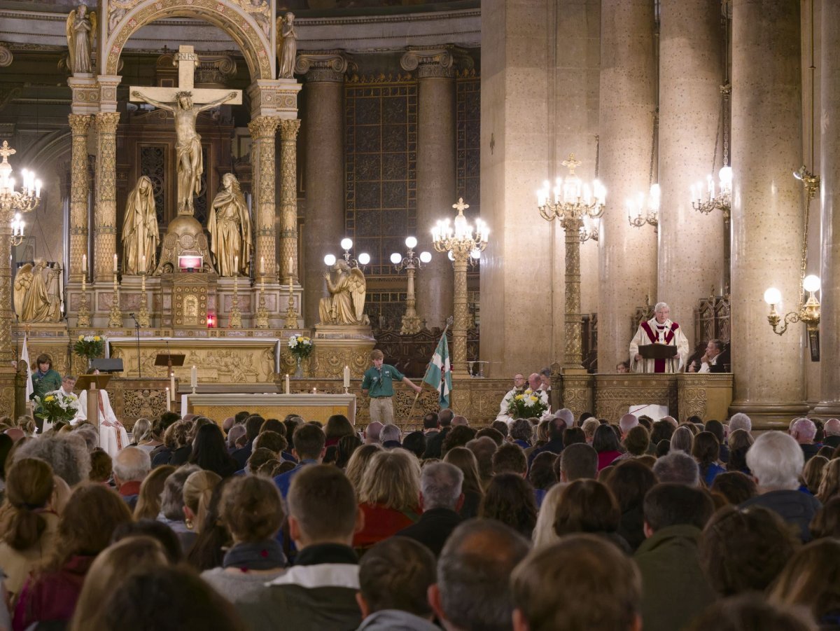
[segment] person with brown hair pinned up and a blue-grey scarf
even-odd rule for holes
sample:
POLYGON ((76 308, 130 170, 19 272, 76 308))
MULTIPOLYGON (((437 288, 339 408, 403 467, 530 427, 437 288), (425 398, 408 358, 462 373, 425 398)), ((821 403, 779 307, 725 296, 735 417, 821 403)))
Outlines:
POLYGON ((237 602, 262 590, 286 567, 286 555, 275 539, 283 523, 283 505, 273 481, 239 476, 225 485, 219 508, 234 545, 221 567, 203 571, 202 578, 237 602))

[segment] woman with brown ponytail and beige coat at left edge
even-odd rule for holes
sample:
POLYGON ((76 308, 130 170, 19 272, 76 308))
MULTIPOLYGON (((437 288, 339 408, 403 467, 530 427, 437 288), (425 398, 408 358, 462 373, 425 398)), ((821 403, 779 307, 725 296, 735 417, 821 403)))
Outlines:
POLYGON ((54 488, 52 467, 44 460, 24 458, 8 471, 6 500, 0 507, 0 567, 12 601, 29 573, 45 560, 58 529, 54 488))

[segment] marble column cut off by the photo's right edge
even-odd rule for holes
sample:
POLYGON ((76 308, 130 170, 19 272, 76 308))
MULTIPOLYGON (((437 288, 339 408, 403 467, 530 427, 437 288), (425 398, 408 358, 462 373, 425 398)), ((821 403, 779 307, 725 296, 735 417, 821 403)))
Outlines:
MULTIPOLYGON (((816 413, 836 417, 840 414, 840 4, 823 3, 821 59, 821 102, 815 110, 816 133, 820 138, 822 177, 822 313, 820 321, 820 364, 822 400, 816 413), (822 132, 822 133, 821 133, 822 132)), ((814 169, 811 169, 812 171, 814 169)), ((811 202, 814 213, 819 198, 811 202)), ((810 363, 810 362, 807 362, 810 363)))

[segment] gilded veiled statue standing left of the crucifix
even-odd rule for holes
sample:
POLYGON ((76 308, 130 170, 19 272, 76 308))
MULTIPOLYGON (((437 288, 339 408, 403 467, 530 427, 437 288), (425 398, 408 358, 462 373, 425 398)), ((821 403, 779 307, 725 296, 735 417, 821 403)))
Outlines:
POLYGON ((129 193, 123 218, 123 266, 126 274, 149 273, 155 269, 158 241, 155 191, 149 176, 140 176, 129 193), (145 257, 145 268, 143 267, 145 257))

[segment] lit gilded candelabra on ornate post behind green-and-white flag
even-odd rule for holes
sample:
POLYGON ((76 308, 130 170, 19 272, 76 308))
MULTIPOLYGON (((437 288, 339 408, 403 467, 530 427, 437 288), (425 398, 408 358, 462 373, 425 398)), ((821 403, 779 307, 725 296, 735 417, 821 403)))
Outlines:
POLYGON ((454 227, 449 219, 438 221, 432 229, 432 242, 438 252, 449 252, 454 260, 454 326, 452 327, 452 373, 454 376, 469 376, 467 367, 467 327, 469 326, 469 310, 467 309, 467 260, 473 250, 479 252, 487 247, 489 230, 486 223, 475 219, 475 235, 473 228, 467 223, 464 211, 470 208, 459 197, 458 203, 452 208, 458 211, 455 216, 454 227))

